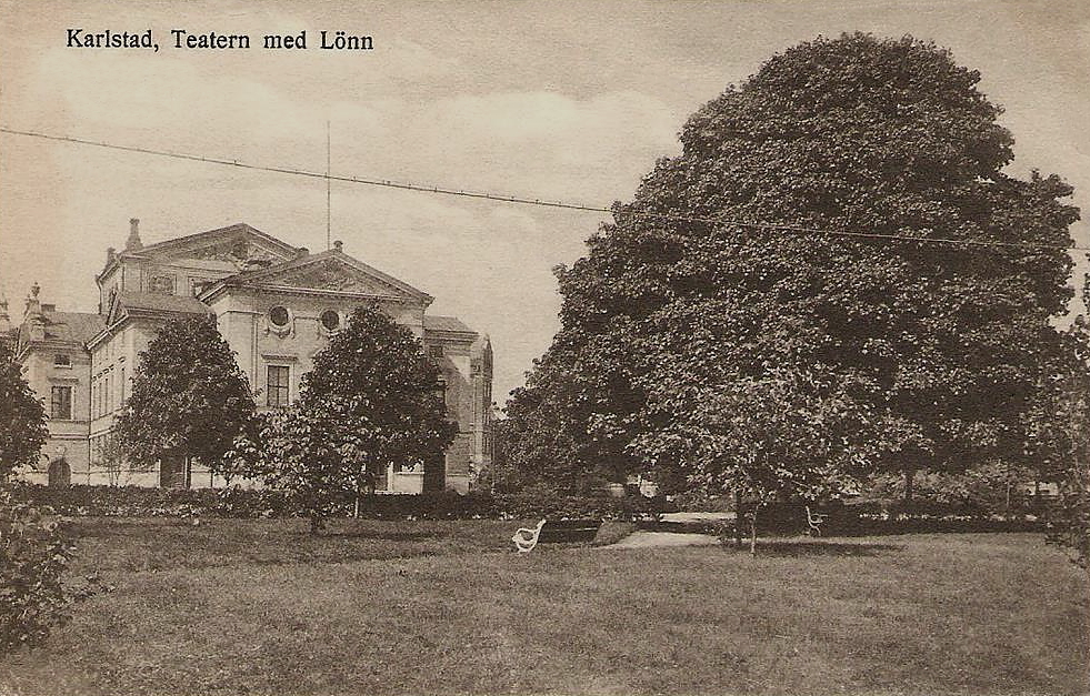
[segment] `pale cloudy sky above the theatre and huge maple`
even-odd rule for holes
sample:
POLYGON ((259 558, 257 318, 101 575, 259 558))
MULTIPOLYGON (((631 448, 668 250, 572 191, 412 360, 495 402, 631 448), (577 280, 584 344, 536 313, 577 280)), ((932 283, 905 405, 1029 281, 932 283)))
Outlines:
MULTIPOLYGON (((1010 173, 1057 173, 1090 211, 1082 0, 0 0, 0 124, 322 172, 328 123, 333 175, 609 206, 680 151, 687 117, 728 84, 857 30, 933 40, 979 70, 1016 139, 1010 173), (151 29, 160 50, 70 48, 76 28, 151 29), (251 48, 178 49, 172 29, 248 34, 251 48), (321 50, 322 30, 373 48, 321 50), (261 48, 301 31, 306 50, 261 48)), ((13 319, 34 282, 59 310, 96 311, 94 274, 130 218, 144 243, 247 222, 321 251, 326 183, 0 133, 0 294, 13 319)), ((607 215, 333 183, 330 219, 347 253, 433 295, 430 314, 490 335, 502 405, 559 326, 553 268, 579 259, 607 215)), ((1072 233, 1090 244, 1086 221, 1072 233)))

